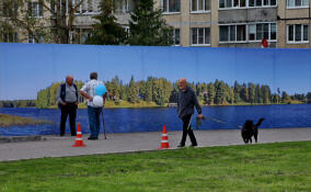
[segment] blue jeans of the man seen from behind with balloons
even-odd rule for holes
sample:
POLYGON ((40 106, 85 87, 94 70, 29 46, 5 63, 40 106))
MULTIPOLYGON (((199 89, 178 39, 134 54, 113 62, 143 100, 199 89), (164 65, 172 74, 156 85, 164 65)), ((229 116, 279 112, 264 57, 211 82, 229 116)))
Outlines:
POLYGON ((89 124, 91 137, 99 137, 101 129, 101 113, 103 108, 88 106, 89 124))

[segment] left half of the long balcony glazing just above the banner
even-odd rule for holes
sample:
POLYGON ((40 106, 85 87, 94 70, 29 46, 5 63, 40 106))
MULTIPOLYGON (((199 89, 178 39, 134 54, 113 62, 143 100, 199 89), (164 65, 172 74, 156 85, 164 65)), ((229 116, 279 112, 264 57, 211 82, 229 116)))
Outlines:
POLYGON ((246 41, 246 25, 220 25, 219 26, 219 42, 245 42, 246 41))

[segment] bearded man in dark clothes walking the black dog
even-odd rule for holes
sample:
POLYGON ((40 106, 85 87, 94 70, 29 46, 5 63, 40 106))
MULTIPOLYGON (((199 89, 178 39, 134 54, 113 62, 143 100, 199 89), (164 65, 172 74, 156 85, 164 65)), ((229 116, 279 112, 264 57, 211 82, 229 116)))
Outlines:
POLYGON ((180 91, 177 99, 177 113, 178 117, 183 121, 183 137, 178 145, 178 147, 184 147, 186 143, 187 134, 192 140, 192 147, 197 146, 197 142, 193 132, 193 127, 191 126, 192 116, 194 114, 194 106, 197 110, 198 118, 203 118, 201 108, 197 101, 195 92, 187 86, 187 80, 182 78, 178 80, 180 91))

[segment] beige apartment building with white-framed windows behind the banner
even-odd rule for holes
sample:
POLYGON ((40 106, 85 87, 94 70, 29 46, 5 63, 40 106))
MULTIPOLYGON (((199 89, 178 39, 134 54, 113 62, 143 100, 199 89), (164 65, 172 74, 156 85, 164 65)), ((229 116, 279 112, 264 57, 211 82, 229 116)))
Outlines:
MULTIPOLYGON (((72 1, 74 0, 59 0, 72 1)), ((78 0, 77 0, 78 1, 78 0)), ((128 30, 129 12, 136 0, 116 0, 115 16, 128 30)), ((163 18, 174 27, 177 46, 310 48, 311 0, 154 0, 163 18)), ((84 43, 100 0, 88 0, 76 11, 74 43, 84 43)), ((68 11, 68 8, 65 10, 68 11)), ((49 16, 33 0, 35 16, 49 16)), ((21 36, 21 35, 20 35, 21 36)), ((18 39, 13 34, 7 39, 18 39)), ((26 41, 34 43, 28 36, 26 41)))

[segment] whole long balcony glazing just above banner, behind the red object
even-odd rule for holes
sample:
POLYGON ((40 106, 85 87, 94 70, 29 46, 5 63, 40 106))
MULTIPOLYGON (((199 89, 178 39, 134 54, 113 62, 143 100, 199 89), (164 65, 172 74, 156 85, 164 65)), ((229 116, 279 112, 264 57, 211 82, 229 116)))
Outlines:
POLYGON ((276 41, 276 23, 220 25, 219 42, 261 42, 264 37, 276 41))

